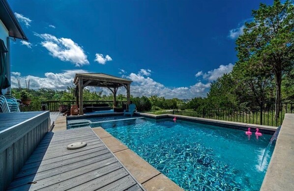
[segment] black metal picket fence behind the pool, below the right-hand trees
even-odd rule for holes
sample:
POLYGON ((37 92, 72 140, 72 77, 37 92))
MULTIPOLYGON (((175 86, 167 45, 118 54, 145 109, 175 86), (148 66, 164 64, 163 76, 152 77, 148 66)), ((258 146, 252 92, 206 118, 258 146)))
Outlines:
POLYGON ((202 117, 207 119, 218 119, 241 123, 250 123, 267 126, 280 126, 284 120, 285 113, 294 113, 294 103, 263 102, 259 109, 203 109, 202 112, 173 110, 173 114, 191 117, 202 117), (275 113, 275 107, 278 112, 275 113))

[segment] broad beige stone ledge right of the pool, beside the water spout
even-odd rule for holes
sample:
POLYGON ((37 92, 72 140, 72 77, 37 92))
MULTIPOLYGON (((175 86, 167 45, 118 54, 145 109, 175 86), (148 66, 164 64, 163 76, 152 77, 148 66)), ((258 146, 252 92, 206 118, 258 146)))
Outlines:
POLYGON ((294 114, 285 114, 261 191, 294 191, 294 114))

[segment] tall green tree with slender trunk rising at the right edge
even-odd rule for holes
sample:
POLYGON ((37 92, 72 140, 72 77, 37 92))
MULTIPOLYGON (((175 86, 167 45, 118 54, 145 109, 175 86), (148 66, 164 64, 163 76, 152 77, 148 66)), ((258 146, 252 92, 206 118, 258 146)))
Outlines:
MULTIPOLYGON (((256 72, 269 72, 275 79, 275 101, 281 102, 283 73, 294 64, 294 5, 274 0, 272 6, 261 3, 253 10, 254 20, 245 23, 243 34, 236 40, 236 63, 244 64, 256 72)), ((276 117, 279 114, 276 104, 276 117)))

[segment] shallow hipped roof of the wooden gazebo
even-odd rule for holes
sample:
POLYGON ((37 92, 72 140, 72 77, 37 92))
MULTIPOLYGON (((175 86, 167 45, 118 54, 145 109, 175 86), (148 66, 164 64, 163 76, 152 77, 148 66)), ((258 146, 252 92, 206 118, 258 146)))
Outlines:
POLYGON ((74 84, 77 85, 80 79, 83 80, 85 86, 96 87, 121 87, 132 82, 131 80, 103 73, 79 73, 74 78, 74 84))

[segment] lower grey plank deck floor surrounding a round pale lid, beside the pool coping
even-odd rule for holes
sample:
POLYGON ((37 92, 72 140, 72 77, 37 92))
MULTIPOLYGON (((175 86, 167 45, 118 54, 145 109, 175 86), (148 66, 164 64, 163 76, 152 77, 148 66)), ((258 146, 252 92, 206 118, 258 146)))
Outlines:
POLYGON ((142 191, 91 128, 49 132, 39 143, 8 190, 142 191), (67 150, 72 142, 87 146, 67 150))

